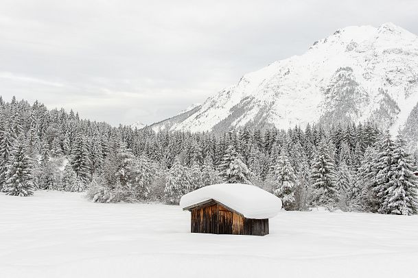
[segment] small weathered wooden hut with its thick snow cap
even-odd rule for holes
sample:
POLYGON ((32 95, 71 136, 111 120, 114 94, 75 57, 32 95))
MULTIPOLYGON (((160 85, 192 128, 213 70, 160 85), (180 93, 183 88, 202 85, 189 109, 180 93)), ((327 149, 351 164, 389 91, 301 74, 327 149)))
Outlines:
POLYGON ((265 236, 268 218, 281 209, 281 200, 248 184, 216 184, 185 194, 183 210, 191 212, 191 233, 265 236))

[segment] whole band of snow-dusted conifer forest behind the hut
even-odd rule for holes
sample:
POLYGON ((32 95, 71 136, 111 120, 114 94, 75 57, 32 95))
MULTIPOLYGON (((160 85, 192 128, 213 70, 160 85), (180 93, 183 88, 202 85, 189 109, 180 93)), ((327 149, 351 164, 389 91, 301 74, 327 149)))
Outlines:
POLYGON ((417 213, 417 151, 373 123, 224 134, 111 127, 72 110, 0 97, 0 190, 87 191, 95 202, 178 203, 202 186, 245 183, 286 210, 417 213))

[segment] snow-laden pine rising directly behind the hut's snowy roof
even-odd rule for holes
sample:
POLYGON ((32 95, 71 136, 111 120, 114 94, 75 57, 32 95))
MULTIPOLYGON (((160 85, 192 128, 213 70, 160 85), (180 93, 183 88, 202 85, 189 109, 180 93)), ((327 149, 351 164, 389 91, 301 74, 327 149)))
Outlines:
POLYGON ((219 166, 219 175, 225 184, 251 184, 251 172, 240 160, 239 155, 229 146, 219 166))

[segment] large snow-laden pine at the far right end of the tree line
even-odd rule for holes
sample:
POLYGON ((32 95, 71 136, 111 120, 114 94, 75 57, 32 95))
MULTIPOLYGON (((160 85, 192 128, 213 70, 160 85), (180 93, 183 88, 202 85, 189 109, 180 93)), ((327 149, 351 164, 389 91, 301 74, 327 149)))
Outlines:
POLYGON ((418 180, 414 175, 415 166, 410 153, 406 151, 406 141, 398 135, 393 149, 391 179, 388 182, 383 207, 388 214, 416 214, 418 211, 418 180))

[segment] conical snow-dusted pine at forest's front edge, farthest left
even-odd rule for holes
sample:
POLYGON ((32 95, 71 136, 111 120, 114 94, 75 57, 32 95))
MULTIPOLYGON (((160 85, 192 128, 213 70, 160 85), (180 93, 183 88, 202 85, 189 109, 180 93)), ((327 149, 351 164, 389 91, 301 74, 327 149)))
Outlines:
POLYGON ((25 141, 22 137, 19 137, 10 153, 3 191, 7 195, 13 196, 31 196, 34 194, 35 186, 32 171, 32 163, 30 157, 27 156, 25 141))

